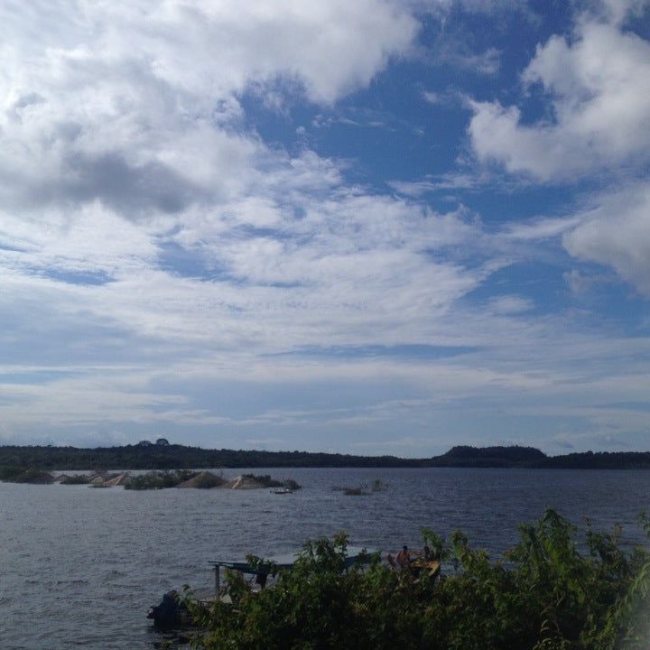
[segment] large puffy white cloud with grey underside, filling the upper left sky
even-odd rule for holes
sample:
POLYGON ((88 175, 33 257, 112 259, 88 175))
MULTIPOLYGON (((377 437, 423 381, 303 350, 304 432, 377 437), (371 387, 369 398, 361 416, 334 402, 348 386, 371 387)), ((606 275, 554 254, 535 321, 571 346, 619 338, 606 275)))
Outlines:
POLYGON ((36 2, 0 10, 0 201, 127 218, 232 199, 273 153, 228 128, 278 79, 330 104, 405 51, 418 24, 358 3, 36 2), (41 32, 34 37, 34 15, 41 32), (63 29, 65 25, 65 29, 63 29))

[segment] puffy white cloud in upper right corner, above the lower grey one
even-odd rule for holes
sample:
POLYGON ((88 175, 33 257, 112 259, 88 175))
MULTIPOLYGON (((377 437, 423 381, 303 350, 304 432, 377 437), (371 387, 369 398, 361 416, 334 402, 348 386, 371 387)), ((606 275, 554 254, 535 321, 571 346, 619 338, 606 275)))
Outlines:
POLYGON ((519 107, 472 103, 469 137, 480 161, 564 181, 646 160, 650 43, 613 18, 583 14, 571 40, 552 36, 538 46, 522 80, 550 96, 552 115, 529 125, 519 107))

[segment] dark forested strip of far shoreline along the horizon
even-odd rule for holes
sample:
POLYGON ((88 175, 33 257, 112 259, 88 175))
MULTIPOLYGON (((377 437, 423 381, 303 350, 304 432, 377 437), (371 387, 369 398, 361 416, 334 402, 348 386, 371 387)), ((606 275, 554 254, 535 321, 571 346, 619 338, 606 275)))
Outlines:
POLYGON ((559 469, 650 469, 650 452, 571 453, 547 456, 533 447, 458 446, 424 459, 396 456, 352 456, 308 451, 206 450, 142 441, 122 447, 4 446, 0 468, 39 469, 190 469, 190 468, 295 468, 295 467, 474 467, 559 469))

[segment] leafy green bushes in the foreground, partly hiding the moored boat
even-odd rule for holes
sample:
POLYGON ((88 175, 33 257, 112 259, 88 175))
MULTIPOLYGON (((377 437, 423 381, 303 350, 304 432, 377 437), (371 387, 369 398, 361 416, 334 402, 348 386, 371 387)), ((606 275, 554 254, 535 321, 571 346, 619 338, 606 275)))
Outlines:
MULTIPOLYGON (((650 524, 644 519, 645 533, 650 524)), ((522 525, 505 562, 490 562, 467 538, 450 543, 431 531, 424 542, 457 571, 418 580, 378 557, 343 571, 347 537, 305 544, 290 571, 254 593, 228 575, 233 606, 209 610, 190 601, 204 650, 340 648, 389 650, 641 650, 647 648, 650 552, 626 552, 620 529, 588 528, 580 553, 576 529, 548 510, 522 525)))

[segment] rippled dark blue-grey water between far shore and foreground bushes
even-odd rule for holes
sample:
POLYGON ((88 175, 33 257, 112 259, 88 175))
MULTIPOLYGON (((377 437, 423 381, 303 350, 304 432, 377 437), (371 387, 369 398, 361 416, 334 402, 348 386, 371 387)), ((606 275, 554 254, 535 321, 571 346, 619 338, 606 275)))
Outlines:
MULTIPOLYGON (((226 470, 227 478, 242 470, 226 470)), ((650 509, 650 472, 519 469, 259 470, 304 486, 132 492, 121 487, 0 483, 0 648, 147 648, 160 636, 147 608, 184 583, 208 593, 209 560, 292 552, 345 530, 383 551, 420 545, 422 526, 463 530, 493 555, 547 506, 580 524, 624 525, 650 509), (385 492, 348 497, 332 486, 381 478, 385 492)))

